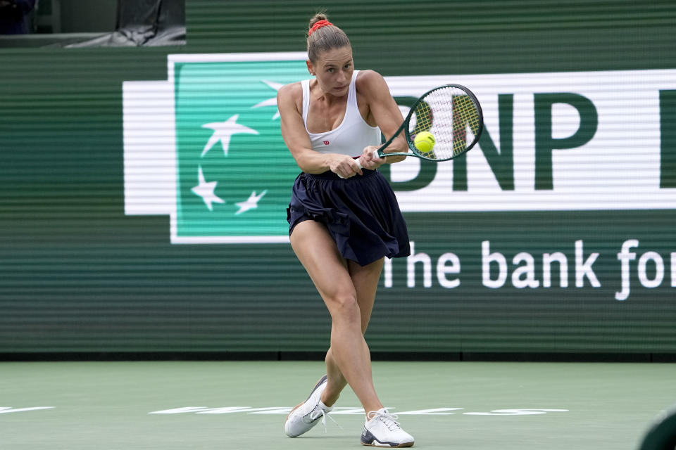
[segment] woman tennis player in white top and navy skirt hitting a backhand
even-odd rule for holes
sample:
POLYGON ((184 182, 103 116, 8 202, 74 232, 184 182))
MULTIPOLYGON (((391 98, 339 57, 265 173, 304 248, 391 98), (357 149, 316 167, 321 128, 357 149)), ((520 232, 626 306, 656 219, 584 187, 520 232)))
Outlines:
MULTIPOLYGON (((289 413, 284 432, 296 437, 325 420, 349 384, 366 412, 362 444, 413 446, 377 397, 363 336, 383 258, 411 252, 392 188, 377 172, 405 157, 373 155, 381 130, 392 136, 403 117, 381 75, 354 70, 348 37, 324 14, 311 19, 307 45, 315 78, 283 86, 277 106, 284 142, 302 170, 287 210, 289 236, 330 312, 331 345, 327 374, 289 413)), ((403 136, 388 147, 407 149, 403 136)))

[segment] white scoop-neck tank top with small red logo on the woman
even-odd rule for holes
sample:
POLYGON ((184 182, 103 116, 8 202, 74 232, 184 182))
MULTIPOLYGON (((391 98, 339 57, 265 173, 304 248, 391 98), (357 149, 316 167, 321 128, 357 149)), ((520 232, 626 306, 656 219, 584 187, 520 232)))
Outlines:
POLYGON ((350 89, 347 94, 345 116, 338 127, 325 133, 311 133, 308 131, 308 110, 310 109, 310 80, 304 79, 303 86, 303 123, 308 131, 313 150, 320 153, 341 153, 356 157, 361 155, 364 147, 380 145, 380 129, 371 127, 361 117, 357 105, 357 88, 355 82, 358 70, 352 72, 350 89))

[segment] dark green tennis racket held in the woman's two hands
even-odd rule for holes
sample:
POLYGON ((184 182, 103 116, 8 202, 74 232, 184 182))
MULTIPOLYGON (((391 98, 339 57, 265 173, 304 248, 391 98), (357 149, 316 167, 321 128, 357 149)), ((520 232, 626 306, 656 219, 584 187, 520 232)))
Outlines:
MULTIPOLYGON (((380 158, 405 155, 428 161, 448 161, 474 147, 483 129, 484 117, 481 105, 472 91, 460 84, 445 84, 425 92, 418 98, 401 127, 375 150, 373 155, 380 158), (384 149, 401 131, 406 136, 406 143, 411 151, 384 153, 384 149), (423 131, 434 136, 432 148, 420 150, 415 146, 415 136, 423 131)), ((360 160, 357 160, 357 165, 363 169, 360 160)))

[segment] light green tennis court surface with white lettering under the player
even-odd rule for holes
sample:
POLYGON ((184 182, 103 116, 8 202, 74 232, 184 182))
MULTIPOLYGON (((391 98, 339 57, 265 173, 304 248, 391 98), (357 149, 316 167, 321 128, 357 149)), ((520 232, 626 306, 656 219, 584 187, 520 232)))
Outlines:
MULTIPOLYGON (((674 364, 373 364, 420 449, 637 449, 676 403, 674 364), (546 411, 550 410, 550 411, 546 411)), ((320 362, 0 364, 1 449, 360 449, 347 388, 327 420, 284 435, 320 362), (44 408, 44 409, 37 409, 44 408)))

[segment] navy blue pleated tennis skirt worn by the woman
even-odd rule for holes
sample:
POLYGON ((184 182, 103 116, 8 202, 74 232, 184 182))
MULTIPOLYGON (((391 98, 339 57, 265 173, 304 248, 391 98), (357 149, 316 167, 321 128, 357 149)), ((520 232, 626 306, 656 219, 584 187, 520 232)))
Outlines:
POLYGON ((289 236, 305 220, 325 224, 346 259, 365 266, 411 255, 408 231, 387 180, 376 170, 342 179, 331 171, 296 177, 287 208, 289 236))

